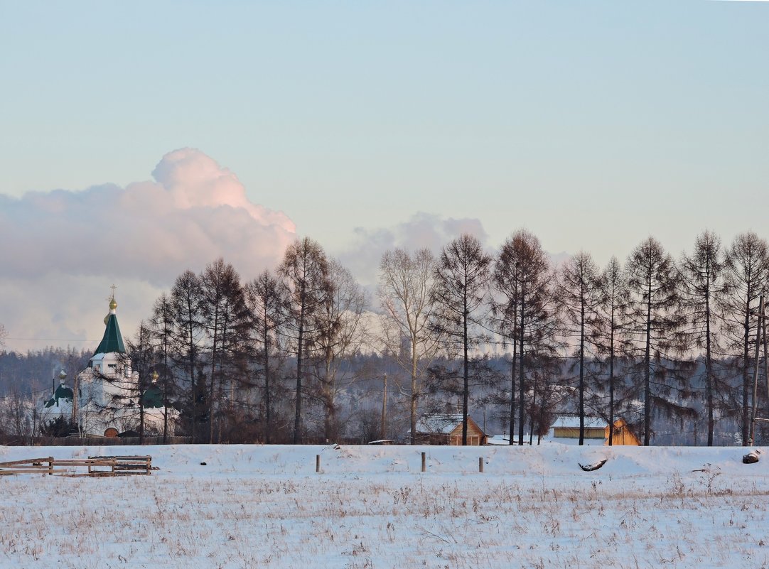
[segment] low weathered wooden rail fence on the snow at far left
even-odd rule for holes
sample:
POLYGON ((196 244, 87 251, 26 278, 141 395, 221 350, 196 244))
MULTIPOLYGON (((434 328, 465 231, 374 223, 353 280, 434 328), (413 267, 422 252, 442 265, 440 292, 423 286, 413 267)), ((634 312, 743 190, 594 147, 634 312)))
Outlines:
POLYGON ((0 462, 3 474, 47 474, 48 476, 126 476, 151 474, 151 456, 113 456, 88 458, 28 458, 23 461, 0 462), (78 471, 85 468, 87 471, 78 471))

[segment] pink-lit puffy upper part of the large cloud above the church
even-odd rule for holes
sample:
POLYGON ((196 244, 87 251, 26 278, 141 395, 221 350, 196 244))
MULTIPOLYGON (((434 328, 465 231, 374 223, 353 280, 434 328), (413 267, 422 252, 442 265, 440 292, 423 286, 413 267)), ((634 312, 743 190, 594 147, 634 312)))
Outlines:
POLYGON ((169 152, 155 181, 125 188, 0 196, 0 271, 172 281, 222 256, 243 275, 280 260, 295 238, 287 215, 251 202, 238 178, 193 148, 169 152))

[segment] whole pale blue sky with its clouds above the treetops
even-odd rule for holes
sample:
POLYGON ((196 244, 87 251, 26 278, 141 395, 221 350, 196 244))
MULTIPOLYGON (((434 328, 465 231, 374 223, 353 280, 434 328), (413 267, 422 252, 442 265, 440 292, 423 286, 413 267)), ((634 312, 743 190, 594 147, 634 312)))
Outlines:
POLYGON ((553 255, 766 238, 767 2, 0 0, 6 348, 125 335, 178 272, 308 235, 553 255), (22 340, 21 338, 34 338, 22 340))

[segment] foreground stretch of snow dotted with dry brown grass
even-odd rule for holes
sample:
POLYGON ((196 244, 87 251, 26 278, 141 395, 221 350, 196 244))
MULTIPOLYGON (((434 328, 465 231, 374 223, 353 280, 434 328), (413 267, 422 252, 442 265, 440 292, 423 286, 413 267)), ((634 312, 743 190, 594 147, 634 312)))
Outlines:
POLYGON ((408 481, 5 477, 0 567, 769 567, 766 487, 714 470, 408 481))

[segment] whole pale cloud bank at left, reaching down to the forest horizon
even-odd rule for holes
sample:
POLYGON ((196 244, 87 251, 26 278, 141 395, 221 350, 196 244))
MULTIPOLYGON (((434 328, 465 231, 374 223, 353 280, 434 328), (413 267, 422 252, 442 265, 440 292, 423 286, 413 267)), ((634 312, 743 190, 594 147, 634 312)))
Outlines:
POLYGON ((129 336, 181 271, 221 256, 252 278, 277 265, 295 238, 287 215, 249 201, 235 174, 201 151, 169 152, 152 175, 125 188, 0 195, 0 321, 9 348, 46 344, 12 338, 100 339, 113 282, 122 308, 129 301, 130 310, 118 308, 129 336))

